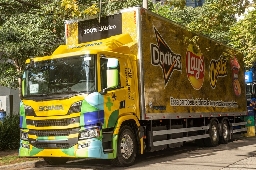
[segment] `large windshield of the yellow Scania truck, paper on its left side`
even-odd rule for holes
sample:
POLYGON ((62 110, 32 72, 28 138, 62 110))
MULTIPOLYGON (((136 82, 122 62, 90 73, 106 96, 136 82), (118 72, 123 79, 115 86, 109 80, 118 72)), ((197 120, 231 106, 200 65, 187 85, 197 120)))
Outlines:
POLYGON ((95 91, 95 55, 76 55, 38 61, 25 71, 24 95, 95 91))

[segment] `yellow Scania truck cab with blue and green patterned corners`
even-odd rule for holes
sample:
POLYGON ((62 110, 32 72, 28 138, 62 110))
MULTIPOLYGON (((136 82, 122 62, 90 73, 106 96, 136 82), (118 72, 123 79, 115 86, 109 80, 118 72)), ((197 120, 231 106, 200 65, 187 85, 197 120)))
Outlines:
POLYGON ((44 157, 50 164, 67 161, 52 157, 114 159, 123 122, 135 128, 121 129, 130 130, 123 136, 122 154, 131 156, 136 149, 133 143, 140 146, 142 140, 136 57, 125 47, 121 48, 126 54, 118 53, 119 46, 131 41, 124 34, 73 47, 62 45, 51 56, 26 61, 21 156, 44 157))

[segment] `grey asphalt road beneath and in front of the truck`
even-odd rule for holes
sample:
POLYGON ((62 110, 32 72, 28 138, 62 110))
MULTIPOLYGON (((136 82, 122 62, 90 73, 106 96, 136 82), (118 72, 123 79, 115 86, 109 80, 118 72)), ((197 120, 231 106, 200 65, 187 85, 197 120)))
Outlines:
POLYGON ((179 148, 172 148, 157 152, 146 152, 143 155, 137 155, 134 165, 126 168, 115 167, 109 160, 80 159, 70 161, 63 165, 41 166, 28 168, 26 170, 226 170, 230 169, 230 165, 235 165, 241 160, 243 160, 241 164, 245 166, 243 169, 256 169, 256 156, 254 155, 256 155, 256 137, 242 137, 238 134, 233 135, 232 140, 230 140, 228 144, 222 144, 214 148, 198 147, 195 142, 191 141, 186 142, 183 147, 179 148), (246 167, 247 160, 252 162, 250 167, 246 167))

